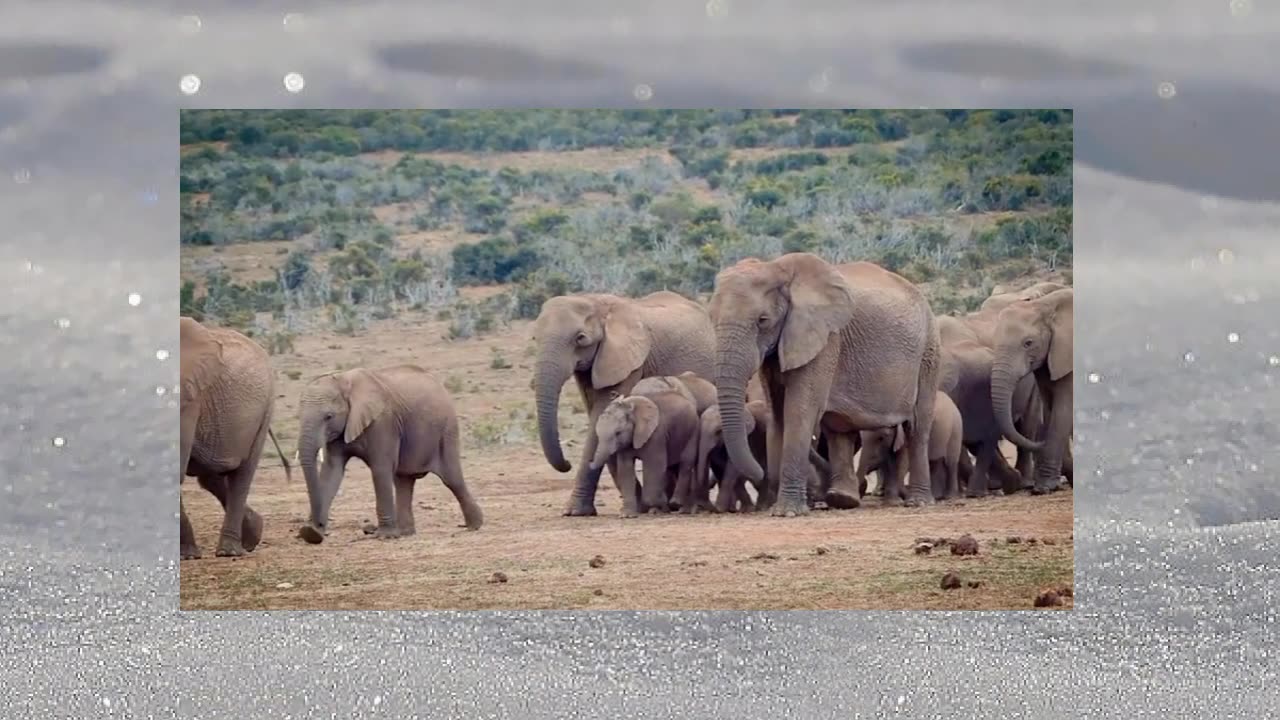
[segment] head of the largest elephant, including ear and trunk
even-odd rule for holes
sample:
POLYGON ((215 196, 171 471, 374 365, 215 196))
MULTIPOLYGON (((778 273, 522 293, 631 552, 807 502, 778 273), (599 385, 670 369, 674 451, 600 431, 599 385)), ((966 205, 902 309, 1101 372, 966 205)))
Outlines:
MULTIPOLYGON (((812 361, 852 319, 854 295, 822 258, 791 252, 742 260, 716 277, 716 388, 730 460, 748 478, 764 470, 746 441, 745 397, 751 374, 771 357, 786 373, 812 361)), ((774 409, 781 413, 781 409, 774 409)))

